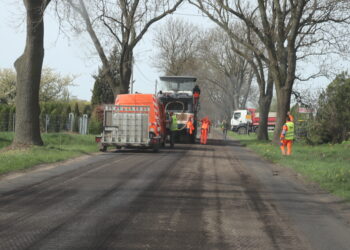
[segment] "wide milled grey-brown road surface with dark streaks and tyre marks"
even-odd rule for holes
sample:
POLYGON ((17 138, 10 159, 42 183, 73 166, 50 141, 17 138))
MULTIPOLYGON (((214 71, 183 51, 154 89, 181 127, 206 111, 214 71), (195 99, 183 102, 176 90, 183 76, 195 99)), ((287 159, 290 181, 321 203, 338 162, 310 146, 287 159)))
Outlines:
POLYGON ((337 203, 235 141, 108 152, 0 179, 0 249, 350 249, 337 203))

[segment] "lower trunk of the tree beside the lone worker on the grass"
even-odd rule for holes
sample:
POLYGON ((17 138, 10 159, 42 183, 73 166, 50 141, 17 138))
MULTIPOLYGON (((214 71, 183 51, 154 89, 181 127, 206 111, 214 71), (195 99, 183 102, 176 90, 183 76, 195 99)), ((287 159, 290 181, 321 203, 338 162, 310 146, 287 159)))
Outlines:
POLYGON ((290 109, 290 97, 292 94, 291 88, 283 87, 276 88, 277 94, 277 121, 275 132, 273 135, 273 141, 278 143, 280 140, 280 134, 283 124, 286 122, 287 112, 290 109))

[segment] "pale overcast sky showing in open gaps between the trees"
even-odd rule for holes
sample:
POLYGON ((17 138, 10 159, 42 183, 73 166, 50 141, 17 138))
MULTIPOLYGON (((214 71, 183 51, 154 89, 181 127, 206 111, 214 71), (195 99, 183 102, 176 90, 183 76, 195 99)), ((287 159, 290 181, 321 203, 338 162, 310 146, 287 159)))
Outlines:
MULTIPOLYGON (((91 99, 91 89, 94 79, 91 75, 97 72, 101 65, 100 60, 86 34, 70 37, 60 34, 57 19, 52 13, 45 16, 45 57, 44 66, 51 67, 61 74, 76 75, 76 86, 70 87, 73 96, 83 100, 91 99)), ((176 18, 182 18, 199 25, 201 28, 213 27, 214 24, 200 15, 200 13, 188 4, 183 5, 176 14, 176 18)), ((0 68, 13 67, 14 61, 22 54, 25 45, 25 22, 22 0, 0 0, 0 68)), ((134 91, 141 93, 153 93, 156 79, 160 73, 152 67, 155 58, 155 48, 152 40, 159 25, 166 18, 155 23, 144 39, 136 47, 134 53, 134 91)), ((312 71, 313 63, 299 65, 299 69, 308 75, 312 71)), ((343 70, 349 70, 349 64, 341 66, 343 70)), ((315 71, 315 69, 313 69, 315 71)), ((296 83, 297 89, 324 88, 329 83, 328 79, 321 78, 308 83, 296 83)))

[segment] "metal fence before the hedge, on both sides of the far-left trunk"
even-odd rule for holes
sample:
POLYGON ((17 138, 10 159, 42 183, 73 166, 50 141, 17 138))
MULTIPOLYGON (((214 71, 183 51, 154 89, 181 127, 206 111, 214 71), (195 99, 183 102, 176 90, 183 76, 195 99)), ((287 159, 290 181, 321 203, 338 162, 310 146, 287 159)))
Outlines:
MULTIPOLYGON (((89 117, 87 114, 75 116, 74 113, 65 115, 41 115, 40 130, 46 133, 76 132, 80 134, 89 133, 89 117)), ((16 125, 16 114, 0 117, 0 132, 14 132, 16 125)))

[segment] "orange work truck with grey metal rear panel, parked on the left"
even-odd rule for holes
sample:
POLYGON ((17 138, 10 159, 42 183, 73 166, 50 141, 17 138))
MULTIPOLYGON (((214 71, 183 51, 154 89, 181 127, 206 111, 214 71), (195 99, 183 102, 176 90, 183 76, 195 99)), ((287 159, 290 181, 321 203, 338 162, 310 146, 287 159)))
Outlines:
POLYGON ((109 146, 158 151, 165 136, 165 112, 159 100, 152 94, 124 94, 117 96, 115 105, 105 106, 97 141, 102 151, 109 146))

